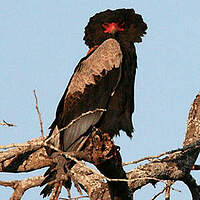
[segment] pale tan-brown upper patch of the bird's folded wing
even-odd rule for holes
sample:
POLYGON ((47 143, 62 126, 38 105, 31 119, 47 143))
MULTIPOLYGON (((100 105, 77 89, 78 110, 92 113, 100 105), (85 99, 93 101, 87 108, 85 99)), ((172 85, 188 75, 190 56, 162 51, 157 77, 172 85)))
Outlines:
POLYGON ((119 43, 114 39, 106 40, 86 60, 80 63, 79 70, 74 74, 66 98, 75 92, 84 92, 86 85, 96 84, 95 76, 102 77, 102 72, 119 68, 122 62, 122 52, 119 43))

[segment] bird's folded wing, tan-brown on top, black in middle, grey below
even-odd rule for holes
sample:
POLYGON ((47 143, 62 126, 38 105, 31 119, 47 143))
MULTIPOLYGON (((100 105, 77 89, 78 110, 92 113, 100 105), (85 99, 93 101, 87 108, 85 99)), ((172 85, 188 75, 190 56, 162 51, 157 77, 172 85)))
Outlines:
POLYGON ((73 145, 78 144, 77 140, 101 119, 104 111, 100 110, 106 109, 120 81, 121 63, 119 43, 108 39, 76 67, 51 126, 61 129, 71 123, 61 132, 60 143, 64 151, 75 150, 73 145))

